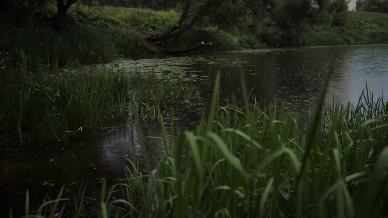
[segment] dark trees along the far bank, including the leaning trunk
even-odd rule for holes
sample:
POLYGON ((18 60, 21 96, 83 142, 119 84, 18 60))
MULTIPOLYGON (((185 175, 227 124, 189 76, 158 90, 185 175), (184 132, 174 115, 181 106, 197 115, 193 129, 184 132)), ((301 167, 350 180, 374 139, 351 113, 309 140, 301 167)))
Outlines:
MULTIPOLYGON (((0 10, 21 14, 21 19, 28 19, 28 16, 56 17, 58 31, 66 29, 67 12, 77 2, 77 0, 0 1, 3 5, 0 10), (52 9, 52 4, 57 6, 56 14, 45 14, 45 11, 50 11, 46 10, 47 8, 52 9)), ((342 26, 347 22, 347 13, 344 13, 347 0, 81 0, 81 2, 85 5, 175 10, 180 13, 176 24, 165 32, 145 36, 146 40, 155 45, 186 31, 206 29, 209 26, 216 30, 253 33, 267 44, 280 42, 289 45, 294 43, 292 40, 298 40, 301 29, 310 24, 342 26)))

